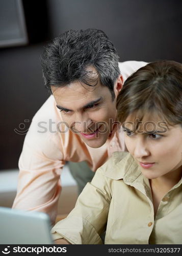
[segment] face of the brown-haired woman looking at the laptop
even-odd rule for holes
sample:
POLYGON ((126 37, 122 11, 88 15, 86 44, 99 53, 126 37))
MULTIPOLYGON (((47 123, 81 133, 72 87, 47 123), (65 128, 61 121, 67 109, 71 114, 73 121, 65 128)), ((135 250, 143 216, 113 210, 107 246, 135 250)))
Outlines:
POLYGON ((123 130, 126 147, 142 174, 148 179, 155 179, 174 170, 182 173, 181 125, 167 127, 159 117, 147 114, 139 122, 137 131, 134 130, 135 123, 134 115, 129 115, 123 130))

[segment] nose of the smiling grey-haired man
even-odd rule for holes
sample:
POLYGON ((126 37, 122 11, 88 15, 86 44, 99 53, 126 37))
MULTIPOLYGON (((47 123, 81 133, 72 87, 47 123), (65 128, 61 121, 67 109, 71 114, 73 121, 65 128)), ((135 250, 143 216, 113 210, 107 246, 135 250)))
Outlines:
MULTIPOLYGON (((73 130, 77 133, 88 133, 92 125, 92 120, 87 115, 76 115, 73 130)), ((92 131, 90 131, 92 133, 92 131)))

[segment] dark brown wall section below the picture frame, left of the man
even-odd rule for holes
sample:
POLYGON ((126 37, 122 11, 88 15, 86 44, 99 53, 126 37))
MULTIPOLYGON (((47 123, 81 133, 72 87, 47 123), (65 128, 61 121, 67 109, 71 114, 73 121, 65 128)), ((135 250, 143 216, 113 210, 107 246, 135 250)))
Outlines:
POLYGON ((44 89, 39 61, 42 49, 41 44, 0 51, 0 169, 18 166, 24 132, 49 96, 44 89))

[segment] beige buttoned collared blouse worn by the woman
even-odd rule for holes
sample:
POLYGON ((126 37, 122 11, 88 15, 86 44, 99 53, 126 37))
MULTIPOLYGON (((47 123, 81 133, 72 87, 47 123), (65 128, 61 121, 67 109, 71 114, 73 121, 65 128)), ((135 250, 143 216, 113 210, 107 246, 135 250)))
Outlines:
POLYGON ((127 152, 115 152, 88 183, 53 238, 72 244, 182 244, 182 179, 160 202, 154 218, 150 184, 127 152))

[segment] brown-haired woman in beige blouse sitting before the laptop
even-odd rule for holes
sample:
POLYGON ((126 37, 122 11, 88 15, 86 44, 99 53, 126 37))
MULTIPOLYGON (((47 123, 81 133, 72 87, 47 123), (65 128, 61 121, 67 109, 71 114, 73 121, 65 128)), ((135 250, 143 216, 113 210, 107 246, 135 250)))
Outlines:
POLYGON ((117 98, 128 152, 96 172, 56 243, 182 244, 182 65, 157 61, 129 77, 117 98))

